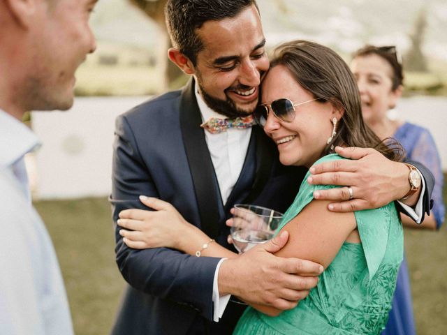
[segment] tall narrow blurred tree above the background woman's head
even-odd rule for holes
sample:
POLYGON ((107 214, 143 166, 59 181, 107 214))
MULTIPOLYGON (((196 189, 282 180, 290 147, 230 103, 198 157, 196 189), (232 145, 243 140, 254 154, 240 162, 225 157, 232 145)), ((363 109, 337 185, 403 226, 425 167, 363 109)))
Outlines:
POLYGON ((427 29, 427 10, 419 10, 414 22, 413 33, 410 34, 411 48, 404 57, 404 66, 410 71, 427 71, 427 61, 422 52, 425 30, 427 29))

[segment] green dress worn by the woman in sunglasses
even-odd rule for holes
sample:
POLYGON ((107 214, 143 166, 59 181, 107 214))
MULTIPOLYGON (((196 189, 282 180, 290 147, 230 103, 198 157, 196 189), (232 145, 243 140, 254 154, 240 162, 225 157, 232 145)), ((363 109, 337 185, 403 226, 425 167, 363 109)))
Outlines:
MULTIPOLYGON (((344 158, 331 154, 317 163, 337 159, 344 158)), ((278 231, 312 201, 314 191, 338 187, 309 185, 307 177, 278 231)), ((354 214, 362 243, 345 242, 306 299, 277 317, 249 307, 233 334, 379 334, 403 258, 402 224, 394 202, 354 214)))

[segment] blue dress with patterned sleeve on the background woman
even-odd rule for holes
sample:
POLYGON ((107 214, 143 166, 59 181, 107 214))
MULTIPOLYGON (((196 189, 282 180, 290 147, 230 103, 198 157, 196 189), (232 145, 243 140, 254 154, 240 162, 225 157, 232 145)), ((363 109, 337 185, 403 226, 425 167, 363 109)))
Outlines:
MULTIPOLYGON (((434 175, 436 181, 432 193, 434 201, 432 214, 439 229, 446 214, 444 200, 442 199, 444 175, 442 174, 441 159, 433 137, 427 129, 409 122, 400 126, 393 137, 402 144, 409 159, 423 163, 434 175)), ((397 276, 393 308, 390 311, 390 318, 382 335, 414 334, 416 334, 416 327, 413 319, 408 265, 404 259, 397 276)))

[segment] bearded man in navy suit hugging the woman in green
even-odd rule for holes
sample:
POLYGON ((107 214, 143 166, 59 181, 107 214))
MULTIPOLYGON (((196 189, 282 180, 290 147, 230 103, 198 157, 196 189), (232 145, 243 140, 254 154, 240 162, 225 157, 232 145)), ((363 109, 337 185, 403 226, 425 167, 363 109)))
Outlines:
MULTIPOLYGON (((298 193, 305 169, 280 165, 274 143, 258 126, 217 134, 200 128, 212 117, 245 117, 258 103, 269 62, 255 1, 170 0, 166 17, 174 46, 169 58, 191 80, 184 89, 117 118, 113 218, 116 223, 123 209, 145 209, 139 195, 161 198, 217 243, 232 248, 225 221, 233 204, 254 203, 284 212, 298 193)), ((314 182, 351 185, 357 193, 357 199, 337 203, 335 209, 359 204, 372 208, 381 205, 376 199, 386 203, 404 198, 410 188, 405 165, 372 149, 356 149, 353 156, 358 153, 364 156, 358 161, 360 172, 348 179, 328 165, 323 166, 325 173, 314 176, 314 182), (333 181, 337 175, 342 179, 333 181), (382 193, 375 197, 377 190, 382 193)), ((429 199, 430 182, 429 173, 422 202, 429 199)), ((406 204, 415 204, 418 194, 406 204)), ((349 193, 341 188, 320 197, 349 200, 349 193)), ((128 248, 119 229, 117 264, 130 286, 112 334, 230 334, 244 306, 228 302, 229 295, 284 310, 298 304, 317 283, 318 265, 272 255, 284 245, 279 239, 277 246, 272 242, 234 260, 221 260, 168 248, 128 248)))

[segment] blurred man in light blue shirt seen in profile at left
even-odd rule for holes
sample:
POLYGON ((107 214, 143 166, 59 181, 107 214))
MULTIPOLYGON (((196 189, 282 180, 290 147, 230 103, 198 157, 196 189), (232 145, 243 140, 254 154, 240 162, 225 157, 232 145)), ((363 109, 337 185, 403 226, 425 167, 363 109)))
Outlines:
POLYGON ((0 2, 0 334, 73 334, 56 254, 34 208, 24 155, 28 110, 73 105, 75 70, 95 50, 97 0, 0 2))

